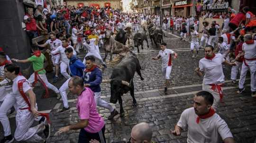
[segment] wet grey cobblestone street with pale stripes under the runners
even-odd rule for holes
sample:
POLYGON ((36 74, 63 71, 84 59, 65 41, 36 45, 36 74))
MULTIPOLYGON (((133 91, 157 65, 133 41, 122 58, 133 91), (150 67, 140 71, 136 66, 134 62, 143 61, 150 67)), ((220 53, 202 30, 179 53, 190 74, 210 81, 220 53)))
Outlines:
MULTIPOLYGON (((132 106, 132 98, 129 93, 123 95, 123 107, 125 116, 120 118, 119 115, 113 120, 107 120, 110 115, 109 110, 98 108, 106 124, 105 135, 107 143, 118 142, 126 138, 130 138, 130 131, 134 125, 140 122, 147 122, 153 128, 153 140, 158 143, 186 143, 187 132, 183 131, 182 136, 174 136, 171 130, 177 123, 184 109, 193 106, 193 96, 201 91, 202 78, 194 73, 194 69, 198 67, 199 60, 204 57, 204 51, 199 51, 199 57, 192 59, 190 51, 190 43, 181 41, 169 32, 165 32, 164 42, 167 48, 178 53, 178 58, 173 60, 171 86, 168 88, 168 94, 164 93, 164 79, 161 72, 161 60, 154 61, 152 56, 156 56, 159 49, 155 49, 155 44, 149 40, 149 48, 134 49, 137 54, 144 80, 141 81, 137 73, 134 77, 135 98, 137 99, 137 107, 132 106)), ((133 45, 133 43, 132 43, 133 45)), ((103 57, 103 51, 101 51, 103 57)), ((80 53, 79 58, 83 58, 84 54, 80 53)), ((119 57, 114 55, 114 60, 107 60, 107 68, 104 69, 103 78, 108 79, 111 75, 113 67, 119 63, 119 57)), ((225 74, 224 98, 220 103, 217 113, 223 118, 234 136, 236 143, 254 143, 256 140, 256 98, 251 97, 250 80, 246 80, 246 91, 237 94, 238 86, 231 83, 230 72, 231 67, 223 69, 225 74)), ((48 75, 48 77, 51 77, 48 75)), ((52 78, 49 78, 52 82, 52 78)), ((58 88, 64 82, 55 84, 58 88)), ((37 87, 38 90, 38 87, 37 87)), ((37 91, 37 93, 40 93, 37 91)), ((51 91, 52 93, 52 91, 51 91)), ((41 95, 42 93, 40 93, 41 95)), ((71 94, 71 93, 70 93, 71 94)), ((57 111, 63 108, 62 101, 57 101, 55 95, 51 95, 48 99, 40 99, 37 95, 39 111, 44 110, 50 112, 51 116, 51 137, 49 143, 77 143, 80 130, 69 131, 65 134, 57 135, 56 131, 66 125, 76 123, 79 118, 76 110, 76 96, 68 96, 69 106, 71 110, 60 114, 57 111), (47 102, 47 105, 44 105, 47 102), (49 105, 48 105, 49 104, 49 105), (42 106, 41 106, 42 105, 42 106)), ((110 101, 110 84, 101 84, 101 98, 110 101)), ((119 111, 119 104, 111 104, 119 111)), ((15 129, 15 118, 11 118, 12 132, 15 129)), ((0 126, 0 138, 2 128, 0 126)))

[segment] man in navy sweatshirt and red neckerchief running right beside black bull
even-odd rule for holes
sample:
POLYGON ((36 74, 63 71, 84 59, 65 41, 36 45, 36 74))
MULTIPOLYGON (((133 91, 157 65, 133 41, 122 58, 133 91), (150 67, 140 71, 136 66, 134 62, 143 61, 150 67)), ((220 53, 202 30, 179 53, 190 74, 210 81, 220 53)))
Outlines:
POLYGON ((86 69, 84 70, 84 86, 89 87, 94 92, 94 99, 97 106, 110 110, 108 119, 114 118, 118 115, 118 111, 114 109, 108 102, 101 99, 101 70, 95 65, 95 58, 93 56, 85 57, 86 69))

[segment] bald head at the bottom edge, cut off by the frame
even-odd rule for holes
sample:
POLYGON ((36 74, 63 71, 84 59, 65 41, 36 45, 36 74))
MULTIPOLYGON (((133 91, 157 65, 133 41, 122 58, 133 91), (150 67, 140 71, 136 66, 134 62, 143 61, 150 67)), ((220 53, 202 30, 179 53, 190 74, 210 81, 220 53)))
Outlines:
POLYGON ((145 122, 135 125, 131 131, 131 137, 141 143, 151 143, 152 134, 151 127, 145 122))

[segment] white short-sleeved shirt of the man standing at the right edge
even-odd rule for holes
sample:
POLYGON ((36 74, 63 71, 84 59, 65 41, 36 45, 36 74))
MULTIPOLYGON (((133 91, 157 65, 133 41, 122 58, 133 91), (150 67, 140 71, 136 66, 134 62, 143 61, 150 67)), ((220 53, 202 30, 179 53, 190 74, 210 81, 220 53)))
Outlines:
POLYGON ((245 59, 256 58, 256 40, 254 40, 254 44, 247 44, 244 42, 242 48, 245 51, 245 59))

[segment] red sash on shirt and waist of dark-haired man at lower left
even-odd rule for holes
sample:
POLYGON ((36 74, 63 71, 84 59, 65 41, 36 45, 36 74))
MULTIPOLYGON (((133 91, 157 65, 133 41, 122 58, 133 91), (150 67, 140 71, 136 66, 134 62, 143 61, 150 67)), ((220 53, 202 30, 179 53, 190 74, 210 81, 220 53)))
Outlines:
MULTIPOLYGON (((26 101, 28 107, 27 108, 20 108, 21 110, 24 110, 24 109, 28 109, 30 112, 31 112, 31 105, 30 105, 30 102, 27 98, 27 95, 26 93, 23 92, 23 83, 24 82, 27 82, 26 79, 21 79, 18 81, 18 91, 19 93, 21 94, 21 96, 23 97, 23 99, 26 101)), ((47 119, 48 123, 50 123, 50 116, 48 113, 40 113, 40 116, 43 116, 47 119)))

